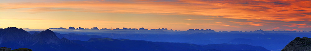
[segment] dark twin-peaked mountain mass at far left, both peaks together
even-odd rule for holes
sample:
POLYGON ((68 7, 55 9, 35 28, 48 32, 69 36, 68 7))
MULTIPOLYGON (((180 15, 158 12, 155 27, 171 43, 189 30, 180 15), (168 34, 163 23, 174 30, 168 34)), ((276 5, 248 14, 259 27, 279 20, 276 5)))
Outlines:
POLYGON ((0 32, 0 46, 11 47, 12 49, 29 48, 34 51, 63 51, 65 49, 77 49, 89 51, 89 49, 86 49, 76 43, 64 42, 63 40, 66 39, 60 40, 54 32, 49 29, 41 31, 36 35, 31 35, 25 30, 21 28, 18 29, 16 27, 0 29, 0 32), (72 47, 72 45, 76 46, 75 48, 58 47, 60 45, 70 45, 65 47, 72 47))

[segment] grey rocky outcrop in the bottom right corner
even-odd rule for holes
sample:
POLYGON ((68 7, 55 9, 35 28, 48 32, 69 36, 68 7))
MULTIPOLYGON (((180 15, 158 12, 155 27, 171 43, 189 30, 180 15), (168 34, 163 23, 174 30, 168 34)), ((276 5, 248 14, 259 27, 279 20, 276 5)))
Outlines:
POLYGON ((311 38, 296 37, 293 41, 288 43, 282 51, 310 51, 311 50, 311 38))

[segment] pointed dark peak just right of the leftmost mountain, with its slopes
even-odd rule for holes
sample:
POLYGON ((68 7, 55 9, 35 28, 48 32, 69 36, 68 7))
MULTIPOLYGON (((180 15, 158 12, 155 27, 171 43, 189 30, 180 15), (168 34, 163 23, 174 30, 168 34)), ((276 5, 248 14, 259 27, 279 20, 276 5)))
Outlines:
POLYGON ((35 35, 32 43, 30 48, 34 51, 90 51, 66 38, 59 39, 49 29, 35 35))

